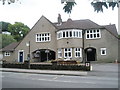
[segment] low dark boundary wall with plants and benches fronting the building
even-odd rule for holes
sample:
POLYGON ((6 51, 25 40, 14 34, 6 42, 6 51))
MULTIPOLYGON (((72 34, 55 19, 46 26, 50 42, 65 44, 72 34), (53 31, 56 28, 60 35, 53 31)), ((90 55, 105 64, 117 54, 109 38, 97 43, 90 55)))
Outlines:
POLYGON ((75 70, 75 71, 90 71, 90 66, 80 64, 79 62, 72 61, 51 61, 50 63, 8 63, 4 62, 3 68, 20 68, 20 69, 40 69, 40 70, 75 70))

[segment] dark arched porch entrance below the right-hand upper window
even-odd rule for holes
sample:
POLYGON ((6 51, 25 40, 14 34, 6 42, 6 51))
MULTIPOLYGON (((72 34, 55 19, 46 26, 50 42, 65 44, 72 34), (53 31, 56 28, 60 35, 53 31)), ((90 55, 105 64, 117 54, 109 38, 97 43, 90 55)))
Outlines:
POLYGON ((96 49, 93 47, 89 47, 85 49, 85 57, 86 61, 96 61, 96 49))

